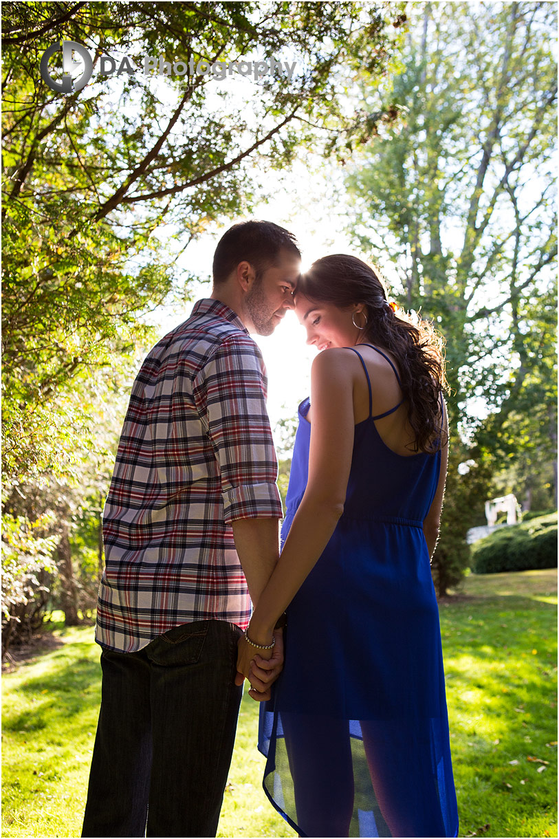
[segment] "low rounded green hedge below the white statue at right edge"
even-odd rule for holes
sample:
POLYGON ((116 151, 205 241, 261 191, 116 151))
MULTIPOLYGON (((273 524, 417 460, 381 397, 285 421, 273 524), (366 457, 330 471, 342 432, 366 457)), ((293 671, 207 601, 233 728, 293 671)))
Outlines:
POLYGON ((476 574, 555 568, 557 514, 494 530, 473 545, 472 555, 472 570, 476 574))

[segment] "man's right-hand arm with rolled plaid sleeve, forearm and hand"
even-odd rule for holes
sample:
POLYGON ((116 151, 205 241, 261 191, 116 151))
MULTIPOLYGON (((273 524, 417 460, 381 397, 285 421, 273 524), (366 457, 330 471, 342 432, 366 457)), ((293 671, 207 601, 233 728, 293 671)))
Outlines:
MULTIPOLYGON (((235 547, 254 604, 279 557, 280 493, 277 460, 266 411, 266 377, 258 347, 248 336, 224 341, 196 378, 193 393, 216 452, 222 482, 223 515, 231 524, 235 547)), ((273 659, 261 675, 280 674, 281 638, 262 657, 273 659)), ((256 649, 254 650, 256 652, 256 649)), ((254 668, 254 685, 264 689, 254 668)), ((238 675, 237 684, 243 683, 238 675)), ((251 694, 252 695, 252 694, 251 694)), ((257 698, 257 696, 253 696, 257 698)))

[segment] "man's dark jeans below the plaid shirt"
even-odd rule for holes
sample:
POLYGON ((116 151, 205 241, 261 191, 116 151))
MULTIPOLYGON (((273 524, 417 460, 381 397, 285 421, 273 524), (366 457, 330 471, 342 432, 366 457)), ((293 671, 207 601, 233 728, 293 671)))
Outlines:
POLYGON ((184 623, 137 653, 103 649, 82 836, 215 836, 242 688, 241 630, 184 623))

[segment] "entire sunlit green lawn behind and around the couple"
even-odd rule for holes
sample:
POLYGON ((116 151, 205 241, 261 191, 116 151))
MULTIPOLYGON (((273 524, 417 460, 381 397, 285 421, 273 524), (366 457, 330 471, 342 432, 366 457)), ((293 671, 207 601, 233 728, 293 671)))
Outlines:
MULTIPOLYGON (((468 576, 442 602, 460 836, 556 836, 556 571, 468 576)), ((100 701, 91 627, 3 676, 2 836, 80 836, 100 701)), ((245 696, 218 836, 295 836, 264 796, 245 696)))

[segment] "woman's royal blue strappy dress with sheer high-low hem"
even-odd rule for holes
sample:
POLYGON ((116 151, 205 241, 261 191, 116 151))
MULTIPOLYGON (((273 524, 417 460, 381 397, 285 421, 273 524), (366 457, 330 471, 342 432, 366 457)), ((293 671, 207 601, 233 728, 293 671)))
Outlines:
MULTIPOLYGON (((369 416, 355 425, 342 517, 287 610, 285 668, 260 708, 264 791, 300 836, 457 836, 422 530, 441 453, 400 456, 384 444, 375 420, 399 405, 372 416, 367 368, 353 352, 369 416)), ((306 488, 308 407, 299 408, 282 543, 306 488)))

